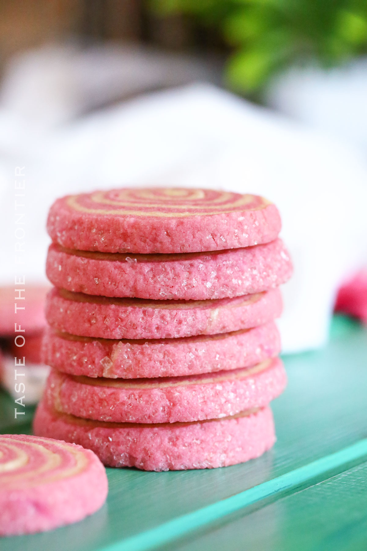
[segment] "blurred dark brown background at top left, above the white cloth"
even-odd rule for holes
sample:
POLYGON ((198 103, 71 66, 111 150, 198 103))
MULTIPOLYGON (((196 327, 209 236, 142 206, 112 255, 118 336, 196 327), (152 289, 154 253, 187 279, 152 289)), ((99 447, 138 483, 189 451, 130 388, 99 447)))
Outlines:
POLYGON ((69 37, 146 42, 171 50, 215 44, 188 18, 160 18, 146 0, 0 0, 0 63, 13 53, 69 37))

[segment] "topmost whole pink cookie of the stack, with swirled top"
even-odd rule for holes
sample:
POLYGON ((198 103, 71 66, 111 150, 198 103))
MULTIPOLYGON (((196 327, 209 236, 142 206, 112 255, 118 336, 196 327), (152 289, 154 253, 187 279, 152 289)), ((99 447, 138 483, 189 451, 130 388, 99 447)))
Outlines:
POLYGON ((52 241, 83 251, 176 253, 237 249, 276 239, 276 206, 256 195, 199 189, 125 188, 53 203, 52 241))

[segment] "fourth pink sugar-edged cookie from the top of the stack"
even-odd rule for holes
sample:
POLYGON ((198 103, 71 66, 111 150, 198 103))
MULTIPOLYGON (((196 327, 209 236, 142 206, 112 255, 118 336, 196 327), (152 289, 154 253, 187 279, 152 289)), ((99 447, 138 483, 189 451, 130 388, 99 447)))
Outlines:
POLYGON ((51 328, 43 361, 71 375, 135 379, 197 375, 249 367, 280 353, 274 322, 215 336, 114 341, 76 337, 51 328))

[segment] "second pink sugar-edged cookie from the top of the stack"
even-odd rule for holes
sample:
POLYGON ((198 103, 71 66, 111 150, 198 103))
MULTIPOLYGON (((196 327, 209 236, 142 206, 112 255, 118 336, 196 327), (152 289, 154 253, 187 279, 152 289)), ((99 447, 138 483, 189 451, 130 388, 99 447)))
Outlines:
POLYGON ((76 293, 206 300, 261 293, 285 283, 292 263, 281 239, 265 245, 177 255, 83 252, 52 244, 46 273, 76 293))

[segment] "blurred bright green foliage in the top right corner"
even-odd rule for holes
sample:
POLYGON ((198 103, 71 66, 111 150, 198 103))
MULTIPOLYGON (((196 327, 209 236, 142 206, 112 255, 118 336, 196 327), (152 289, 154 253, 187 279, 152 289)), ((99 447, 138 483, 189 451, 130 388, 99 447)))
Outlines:
POLYGON ((150 0, 150 6, 217 29, 232 51, 227 84, 247 95, 294 63, 332 67, 367 51, 367 0, 150 0))

